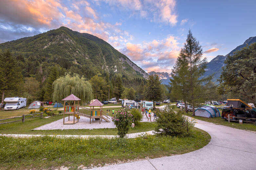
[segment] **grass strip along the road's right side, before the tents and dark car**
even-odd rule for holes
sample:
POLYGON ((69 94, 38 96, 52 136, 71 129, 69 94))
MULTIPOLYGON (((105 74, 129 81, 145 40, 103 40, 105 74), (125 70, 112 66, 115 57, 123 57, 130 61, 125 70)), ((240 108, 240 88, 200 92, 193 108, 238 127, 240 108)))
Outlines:
MULTIPOLYGON (((176 110, 179 110, 179 108, 177 108, 176 110)), ((228 126, 228 127, 242 129, 242 130, 256 131, 256 126, 254 125, 254 123, 243 123, 241 125, 238 122, 228 123, 228 121, 222 119, 221 117, 206 118, 206 117, 200 117, 200 116, 192 116, 192 112, 188 112, 188 113, 184 112, 184 114, 187 116, 190 116, 190 117, 194 117, 198 120, 203 120, 205 122, 211 122, 211 123, 214 123, 217 125, 224 125, 224 126, 228 126)), ((222 114, 221 109, 220 109, 220 114, 222 114)))

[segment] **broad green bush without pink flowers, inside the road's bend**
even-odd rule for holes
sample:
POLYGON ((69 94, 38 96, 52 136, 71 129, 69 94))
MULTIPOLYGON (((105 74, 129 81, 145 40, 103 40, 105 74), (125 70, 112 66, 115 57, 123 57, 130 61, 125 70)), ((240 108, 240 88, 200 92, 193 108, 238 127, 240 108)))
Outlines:
POLYGON ((164 110, 158 110, 156 119, 156 132, 163 135, 188 135, 194 126, 194 121, 189 121, 182 112, 174 110, 175 105, 166 105, 164 110))

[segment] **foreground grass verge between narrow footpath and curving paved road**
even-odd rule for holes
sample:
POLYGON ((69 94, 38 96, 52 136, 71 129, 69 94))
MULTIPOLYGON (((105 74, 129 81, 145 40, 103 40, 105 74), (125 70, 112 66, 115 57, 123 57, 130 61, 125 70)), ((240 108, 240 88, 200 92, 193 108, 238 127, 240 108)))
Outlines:
POLYGON ((188 137, 142 136, 135 139, 10 138, 0 136, 1 169, 77 169, 138 159, 184 154, 202 148, 210 135, 197 128, 188 137))

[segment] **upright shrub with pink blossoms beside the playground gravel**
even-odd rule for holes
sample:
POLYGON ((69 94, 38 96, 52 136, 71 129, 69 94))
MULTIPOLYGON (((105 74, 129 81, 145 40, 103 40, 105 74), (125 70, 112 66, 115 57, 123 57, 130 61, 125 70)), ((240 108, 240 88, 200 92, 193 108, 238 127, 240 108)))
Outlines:
POLYGON ((112 121, 117 127, 118 136, 123 138, 128 133, 130 124, 133 122, 133 115, 128 113, 127 109, 121 109, 114 114, 112 121))

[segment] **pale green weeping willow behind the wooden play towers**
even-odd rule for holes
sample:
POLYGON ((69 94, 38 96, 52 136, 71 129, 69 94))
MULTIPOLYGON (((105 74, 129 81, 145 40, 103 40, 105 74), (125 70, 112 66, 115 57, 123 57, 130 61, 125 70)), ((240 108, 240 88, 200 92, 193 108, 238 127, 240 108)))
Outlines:
POLYGON ((70 94, 79 97, 82 103, 93 99, 91 84, 78 74, 66 74, 53 82, 53 101, 59 102, 70 94))

